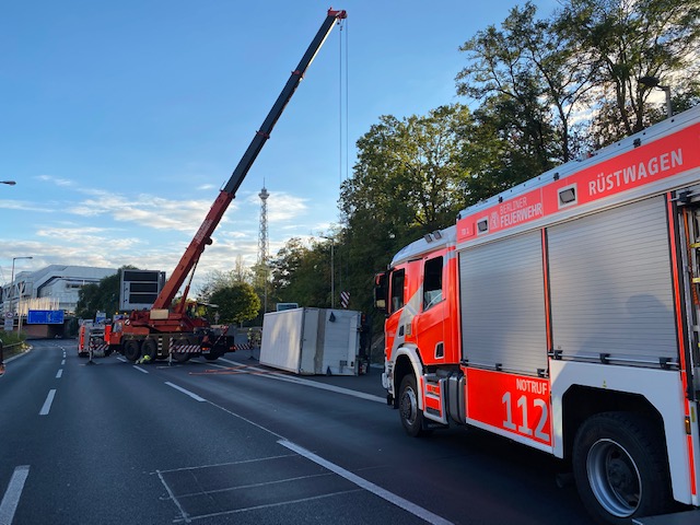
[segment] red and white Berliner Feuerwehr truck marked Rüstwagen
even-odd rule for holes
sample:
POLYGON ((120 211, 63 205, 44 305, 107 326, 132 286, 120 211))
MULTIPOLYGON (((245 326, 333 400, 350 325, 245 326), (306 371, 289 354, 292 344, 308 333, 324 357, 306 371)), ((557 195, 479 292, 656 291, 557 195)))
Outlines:
POLYGON ((700 106, 462 211, 376 277, 387 400, 570 462, 600 523, 700 506, 700 106))

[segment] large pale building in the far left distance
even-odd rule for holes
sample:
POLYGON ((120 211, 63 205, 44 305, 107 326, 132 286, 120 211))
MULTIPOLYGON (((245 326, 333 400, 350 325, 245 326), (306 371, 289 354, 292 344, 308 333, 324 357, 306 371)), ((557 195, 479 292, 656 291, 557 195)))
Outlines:
POLYGON ((21 312, 26 316, 28 310, 62 310, 72 314, 82 287, 96 284, 116 272, 116 268, 65 265, 21 271, 15 273, 14 282, 0 289, 0 312, 21 312))

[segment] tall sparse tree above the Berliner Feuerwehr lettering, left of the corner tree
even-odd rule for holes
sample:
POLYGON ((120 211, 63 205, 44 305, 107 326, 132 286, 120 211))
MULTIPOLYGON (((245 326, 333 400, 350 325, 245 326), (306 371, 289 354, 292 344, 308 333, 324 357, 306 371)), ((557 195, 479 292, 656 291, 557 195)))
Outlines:
POLYGON ((541 173, 575 153, 572 119, 588 100, 593 73, 582 67, 587 58, 579 46, 536 13, 528 1, 513 8, 500 30, 490 25, 467 40, 459 48, 467 66, 456 80, 458 94, 482 102, 478 113, 502 141, 498 149, 527 158, 541 173))

